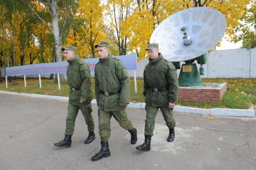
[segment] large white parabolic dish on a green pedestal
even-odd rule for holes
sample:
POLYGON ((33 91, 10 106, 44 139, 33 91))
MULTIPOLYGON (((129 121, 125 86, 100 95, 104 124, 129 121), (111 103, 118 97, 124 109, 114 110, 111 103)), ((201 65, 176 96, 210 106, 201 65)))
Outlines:
POLYGON ((159 44, 159 52, 169 61, 187 61, 212 49, 224 36, 226 20, 222 13, 209 7, 195 7, 179 11, 160 23, 150 38, 159 44), (183 44, 182 27, 192 44, 183 44))

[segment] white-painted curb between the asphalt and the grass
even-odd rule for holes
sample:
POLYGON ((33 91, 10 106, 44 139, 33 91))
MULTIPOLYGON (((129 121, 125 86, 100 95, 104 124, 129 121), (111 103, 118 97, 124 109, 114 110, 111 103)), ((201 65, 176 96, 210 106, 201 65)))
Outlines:
MULTIPOLYGON (((10 91, 0 91, 0 94, 11 94, 17 96, 25 97, 37 97, 43 99, 53 99, 53 100, 64 100, 69 101, 69 97, 61 96, 48 96, 43 94, 28 94, 28 93, 16 93, 10 91)), ((91 101, 93 104, 97 104, 96 99, 91 101)), ((127 108, 135 109, 145 109, 145 103, 129 103, 127 108)), ((197 115, 206 115, 206 116, 216 116, 216 117, 255 117, 254 109, 223 109, 223 108, 213 108, 213 109, 201 109, 201 108, 192 108, 187 106, 175 106, 174 112, 180 112, 185 114, 197 114, 197 115)))

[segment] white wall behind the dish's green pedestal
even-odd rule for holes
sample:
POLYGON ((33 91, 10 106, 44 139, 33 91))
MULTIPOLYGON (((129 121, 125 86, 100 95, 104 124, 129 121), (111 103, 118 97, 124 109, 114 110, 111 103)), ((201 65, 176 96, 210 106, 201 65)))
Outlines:
MULTIPOLYGON (((147 59, 138 63, 137 77, 143 77, 143 69, 147 63, 147 59)), ((195 63, 197 62, 195 61, 195 63)), ((184 62, 180 62, 180 64, 182 65, 184 62)), ((200 64, 197 64, 197 67, 199 69, 200 64)), ((256 78, 256 48, 210 52, 207 55, 207 63, 203 67, 203 78, 256 78)), ((180 74, 180 70, 177 70, 177 74, 180 74)))

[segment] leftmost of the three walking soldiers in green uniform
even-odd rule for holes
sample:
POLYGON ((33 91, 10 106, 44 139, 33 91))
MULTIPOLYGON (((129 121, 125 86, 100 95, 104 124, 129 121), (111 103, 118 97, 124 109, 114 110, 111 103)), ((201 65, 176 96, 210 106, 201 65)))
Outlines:
POLYGON ((88 64, 76 55, 76 48, 66 46, 62 48, 69 66, 67 67, 67 83, 70 87, 69 93, 69 109, 66 118, 65 138, 56 144, 57 147, 70 147, 71 137, 74 132, 75 120, 79 109, 84 115, 85 123, 88 127, 88 138, 84 141, 85 144, 91 143, 95 139, 94 121, 91 115, 91 72, 88 64))

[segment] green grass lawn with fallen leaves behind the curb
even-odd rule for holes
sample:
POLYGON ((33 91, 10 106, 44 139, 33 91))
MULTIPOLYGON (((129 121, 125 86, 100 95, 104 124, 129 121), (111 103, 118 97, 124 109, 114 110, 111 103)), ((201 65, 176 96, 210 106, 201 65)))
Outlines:
MULTIPOLYGON (((256 79, 203 79, 203 82, 227 82, 228 89, 221 102, 177 102, 177 105, 192 106, 197 108, 236 108, 248 109, 256 105, 256 79)), ((39 88, 38 79, 26 79, 27 87, 24 87, 23 79, 12 80, 8 82, 8 88, 5 88, 5 79, 0 82, 0 90, 14 91, 17 93, 46 94, 53 96, 69 96, 69 87, 67 82, 61 82, 61 90, 58 90, 58 83, 55 80, 41 79, 39 88)), ((143 79, 137 79, 138 93, 134 91, 134 80, 130 79, 130 102, 144 102, 143 79)), ((92 79, 91 90, 94 99, 94 79, 92 79)))

